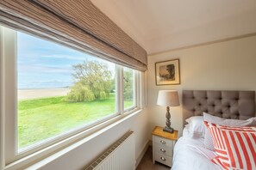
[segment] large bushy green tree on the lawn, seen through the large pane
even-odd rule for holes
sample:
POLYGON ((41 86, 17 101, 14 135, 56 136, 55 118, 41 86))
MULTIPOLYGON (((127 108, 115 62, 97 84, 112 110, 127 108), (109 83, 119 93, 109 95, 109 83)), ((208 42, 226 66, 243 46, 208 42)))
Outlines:
POLYGON ((72 76, 76 82, 68 94, 73 101, 105 100, 111 91, 111 71, 107 64, 94 61, 84 61, 83 64, 72 66, 72 76))

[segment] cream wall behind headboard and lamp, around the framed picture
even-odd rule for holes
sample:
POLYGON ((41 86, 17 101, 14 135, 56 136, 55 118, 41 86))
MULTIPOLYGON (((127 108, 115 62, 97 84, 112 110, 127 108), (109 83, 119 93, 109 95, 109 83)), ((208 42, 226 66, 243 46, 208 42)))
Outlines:
MULTIPOLYGON (((150 130, 165 125, 165 107, 157 106, 158 91, 183 89, 256 90, 256 36, 205 46, 163 52, 148 57, 148 114, 150 130), (155 85, 155 63, 180 59, 180 85, 155 85)), ((171 108, 172 126, 182 135, 182 108, 171 108)))

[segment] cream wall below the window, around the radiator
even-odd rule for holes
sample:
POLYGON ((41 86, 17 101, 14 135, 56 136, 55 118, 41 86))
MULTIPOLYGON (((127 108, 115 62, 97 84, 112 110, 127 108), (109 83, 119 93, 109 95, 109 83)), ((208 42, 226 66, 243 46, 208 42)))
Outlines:
POLYGON ((91 141, 84 143, 81 147, 59 157, 59 159, 47 164, 43 169, 82 169, 129 130, 134 131, 135 153, 136 158, 138 158, 140 152, 148 143, 147 109, 128 118, 109 131, 105 131, 102 135, 93 138, 91 141))

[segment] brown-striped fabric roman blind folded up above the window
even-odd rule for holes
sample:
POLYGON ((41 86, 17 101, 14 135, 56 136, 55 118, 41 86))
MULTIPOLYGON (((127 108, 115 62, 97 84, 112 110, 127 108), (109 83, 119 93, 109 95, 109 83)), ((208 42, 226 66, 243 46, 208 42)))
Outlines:
POLYGON ((135 70, 147 52, 89 0, 1 0, 0 22, 135 70))

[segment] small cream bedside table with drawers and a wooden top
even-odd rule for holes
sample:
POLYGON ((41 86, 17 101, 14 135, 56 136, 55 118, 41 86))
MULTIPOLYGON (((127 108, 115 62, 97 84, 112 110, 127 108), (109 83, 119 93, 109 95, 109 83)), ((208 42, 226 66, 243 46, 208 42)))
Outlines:
POLYGON ((174 144, 178 140, 178 131, 173 133, 163 131, 162 127, 156 126, 152 131, 153 136, 153 164, 155 161, 172 167, 172 154, 174 144))

